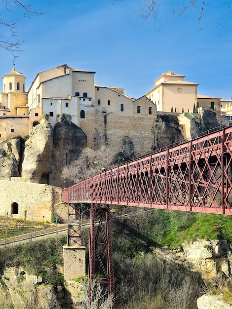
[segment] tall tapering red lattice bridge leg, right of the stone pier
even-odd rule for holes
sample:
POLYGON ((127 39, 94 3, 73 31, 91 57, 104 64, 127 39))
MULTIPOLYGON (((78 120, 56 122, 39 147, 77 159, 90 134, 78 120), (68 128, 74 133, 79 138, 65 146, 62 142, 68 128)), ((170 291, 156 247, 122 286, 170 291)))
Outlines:
MULTIPOLYGON (((89 302, 94 295, 92 283, 97 279, 103 293, 114 298, 115 281, 113 266, 112 234, 109 205, 91 204, 89 237, 89 302)), ((112 309, 115 308, 114 301, 112 309)))

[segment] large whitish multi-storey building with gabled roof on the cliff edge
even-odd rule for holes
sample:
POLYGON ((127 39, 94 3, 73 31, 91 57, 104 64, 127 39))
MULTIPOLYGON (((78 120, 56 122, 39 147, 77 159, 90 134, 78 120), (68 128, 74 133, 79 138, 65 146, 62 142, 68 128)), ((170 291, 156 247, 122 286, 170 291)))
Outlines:
POLYGON ((56 115, 63 113, 70 114, 72 122, 79 126, 80 118, 85 118, 92 108, 131 115, 133 99, 125 96, 123 89, 95 85, 94 74, 67 64, 39 73, 28 91, 30 129, 39 123, 42 114, 49 116, 52 127, 56 115))

